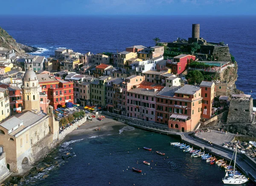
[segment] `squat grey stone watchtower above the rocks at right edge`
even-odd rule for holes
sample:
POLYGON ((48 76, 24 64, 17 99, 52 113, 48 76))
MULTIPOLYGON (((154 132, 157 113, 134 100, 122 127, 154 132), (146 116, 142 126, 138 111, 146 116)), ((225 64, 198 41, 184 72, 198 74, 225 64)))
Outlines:
POLYGON ((247 94, 233 94, 228 110, 228 124, 248 124, 253 121, 253 98, 247 94))

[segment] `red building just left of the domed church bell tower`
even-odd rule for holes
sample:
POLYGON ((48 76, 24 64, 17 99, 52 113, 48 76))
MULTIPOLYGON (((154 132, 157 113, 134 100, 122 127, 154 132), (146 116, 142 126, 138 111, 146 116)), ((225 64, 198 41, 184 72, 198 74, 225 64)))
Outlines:
POLYGON ((22 94, 21 88, 11 86, 8 84, 1 84, 0 87, 7 88, 9 90, 10 109, 12 112, 21 111, 22 107, 22 94))

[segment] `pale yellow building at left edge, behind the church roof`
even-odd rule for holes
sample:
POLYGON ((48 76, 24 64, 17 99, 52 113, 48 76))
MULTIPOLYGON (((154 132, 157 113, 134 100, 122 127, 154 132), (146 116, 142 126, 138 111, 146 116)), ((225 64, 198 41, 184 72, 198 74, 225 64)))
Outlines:
POLYGON ((0 122, 10 116, 9 90, 0 87, 0 122))

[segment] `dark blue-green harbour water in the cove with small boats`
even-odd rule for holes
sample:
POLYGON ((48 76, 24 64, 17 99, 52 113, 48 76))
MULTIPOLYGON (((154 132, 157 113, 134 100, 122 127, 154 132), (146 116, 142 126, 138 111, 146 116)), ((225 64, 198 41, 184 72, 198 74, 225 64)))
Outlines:
MULTIPOLYGON (((73 186, 73 185, 172 185, 207 186, 223 185, 225 171, 210 165, 201 158, 191 158, 170 142, 178 141, 168 135, 125 126, 99 135, 74 136, 58 149, 58 155, 75 154, 59 167, 46 173, 27 178, 29 185, 73 186), (144 150, 150 147, 152 151, 144 150), (158 155, 155 151, 165 152, 158 155), (143 161, 150 162, 150 166, 143 161), (132 172, 131 167, 142 169, 132 172), (44 174, 49 177, 42 179, 44 174)), ((56 159, 58 159, 57 157, 56 159)))

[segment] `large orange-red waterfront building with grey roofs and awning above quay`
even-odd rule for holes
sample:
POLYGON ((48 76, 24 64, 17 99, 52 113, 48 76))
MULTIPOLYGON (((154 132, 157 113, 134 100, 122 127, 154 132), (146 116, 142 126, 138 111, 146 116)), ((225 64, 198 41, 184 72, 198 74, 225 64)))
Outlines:
POLYGON ((156 122, 178 132, 194 130, 201 118, 201 88, 194 85, 164 87, 157 96, 156 122))

